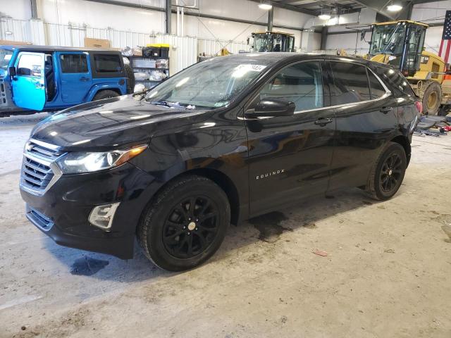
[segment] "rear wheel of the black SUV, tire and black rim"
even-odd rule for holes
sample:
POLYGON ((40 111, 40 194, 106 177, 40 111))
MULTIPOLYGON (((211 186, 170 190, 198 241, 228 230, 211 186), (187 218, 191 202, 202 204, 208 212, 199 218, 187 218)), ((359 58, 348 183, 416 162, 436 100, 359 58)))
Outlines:
POLYGON ((401 187, 406 168, 404 148, 398 143, 390 142, 373 165, 366 192, 379 201, 392 198, 401 187))

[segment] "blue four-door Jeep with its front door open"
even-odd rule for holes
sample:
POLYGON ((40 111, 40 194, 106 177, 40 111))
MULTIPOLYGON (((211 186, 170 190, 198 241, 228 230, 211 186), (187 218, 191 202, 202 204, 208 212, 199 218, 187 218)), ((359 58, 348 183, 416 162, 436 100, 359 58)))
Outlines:
POLYGON ((134 82, 119 51, 0 46, 0 117, 125 95, 134 82))

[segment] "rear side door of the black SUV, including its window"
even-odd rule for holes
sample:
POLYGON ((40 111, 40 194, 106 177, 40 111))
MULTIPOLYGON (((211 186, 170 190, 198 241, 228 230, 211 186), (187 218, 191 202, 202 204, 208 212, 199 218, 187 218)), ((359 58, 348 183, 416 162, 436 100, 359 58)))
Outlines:
POLYGON ((383 146, 397 129, 397 101, 361 63, 330 61, 336 133, 329 190, 366 184, 383 146))

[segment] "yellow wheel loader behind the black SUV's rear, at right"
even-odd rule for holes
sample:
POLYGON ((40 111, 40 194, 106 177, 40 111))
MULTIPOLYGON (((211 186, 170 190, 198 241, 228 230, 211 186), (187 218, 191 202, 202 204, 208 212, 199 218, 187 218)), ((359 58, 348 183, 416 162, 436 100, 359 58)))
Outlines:
POLYGON ((451 108, 451 73, 443 58, 424 50, 428 25, 399 20, 372 25, 368 58, 398 68, 423 101, 423 113, 446 115, 451 108))

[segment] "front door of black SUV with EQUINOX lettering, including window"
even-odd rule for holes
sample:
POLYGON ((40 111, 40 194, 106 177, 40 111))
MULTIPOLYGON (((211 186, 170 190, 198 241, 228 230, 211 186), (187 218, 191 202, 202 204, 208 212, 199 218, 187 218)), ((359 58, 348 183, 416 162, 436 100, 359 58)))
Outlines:
POLYGON ((326 192, 335 132, 321 61, 279 70, 246 108, 254 108, 261 99, 291 101, 296 108, 291 116, 245 119, 252 215, 326 192))

